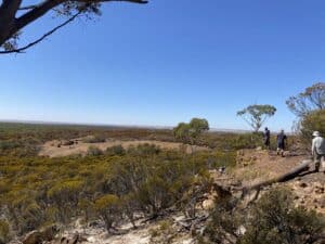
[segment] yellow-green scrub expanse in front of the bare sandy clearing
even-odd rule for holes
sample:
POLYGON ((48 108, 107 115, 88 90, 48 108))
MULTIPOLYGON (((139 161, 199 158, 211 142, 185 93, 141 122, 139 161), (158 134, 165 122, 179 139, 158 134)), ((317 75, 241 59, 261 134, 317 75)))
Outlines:
POLYGON ((185 154, 151 144, 90 149, 86 157, 39 157, 22 153, 30 146, 25 137, 37 147, 39 134, 40 141, 61 134, 52 128, 32 133, 28 127, 13 139, 11 128, 2 130, 2 138, 17 146, 2 147, 0 156, 0 240, 77 217, 102 219, 112 231, 123 220, 134 223, 139 216, 154 218, 172 207, 194 215, 193 201, 211 187, 208 170, 235 164, 234 152, 185 154))

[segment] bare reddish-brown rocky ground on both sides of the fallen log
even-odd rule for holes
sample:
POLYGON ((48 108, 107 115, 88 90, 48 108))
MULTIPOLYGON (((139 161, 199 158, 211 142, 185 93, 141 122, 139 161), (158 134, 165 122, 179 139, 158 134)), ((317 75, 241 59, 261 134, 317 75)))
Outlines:
MULTIPOLYGON (((242 180, 243 184, 249 185, 288 172, 303 159, 308 159, 308 155, 281 157, 268 151, 239 151, 238 167, 233 171, 233 176, 242 180)), ((313 170, 312 164, 310 171, 284 184, 292 190, 297 206, 325 214, 325 167, 321 168, 321 172, 313 170)))

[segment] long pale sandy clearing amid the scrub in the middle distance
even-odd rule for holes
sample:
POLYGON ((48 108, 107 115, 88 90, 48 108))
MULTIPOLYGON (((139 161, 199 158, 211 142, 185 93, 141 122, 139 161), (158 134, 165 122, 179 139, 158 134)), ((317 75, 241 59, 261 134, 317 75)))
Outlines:
MULTIPOLYGON (((73 145, 61 145, 61 147, 57 147, 57 144, 60 141, 49 141, 46 142, 40 150, 39 155, 40 156, 50 156, 50 157, 62 157, 62 156, 68 156, 74 154, 81 154, 84 155, 87 153, 87 150, 89 146, 96 146, 101 150, 106 150, 107 147, 114 146, 114 145, 122 145, 125 149, 128 149, 129 146, 136 146, 139 144, 155 144, 160 146, 161 149, 167 150, 179 150, 180 147, 184 146, 187 153, 192 152, 191 145, 184 145, 182 143, 177 142, 164 142, 164 141, 150 141, 150 140, 132 140, 132 141, 121 141, 121 140, 106 140, 106 142, 101 143, 84 143, 81 139, 75 139, 73 141, 78 141, 78 144, 73 145)), ((194 151, 207 151, 207 147, 204 146, 193 146, 194 151)))

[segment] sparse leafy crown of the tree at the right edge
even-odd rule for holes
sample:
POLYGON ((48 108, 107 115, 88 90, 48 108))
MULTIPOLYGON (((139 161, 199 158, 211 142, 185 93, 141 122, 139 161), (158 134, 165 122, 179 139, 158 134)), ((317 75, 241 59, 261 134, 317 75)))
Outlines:
POLYGON ((314 84, 298 95, 290 97, 286 104, 298 117, 312 111, 325 110, 325 82, 314 84))

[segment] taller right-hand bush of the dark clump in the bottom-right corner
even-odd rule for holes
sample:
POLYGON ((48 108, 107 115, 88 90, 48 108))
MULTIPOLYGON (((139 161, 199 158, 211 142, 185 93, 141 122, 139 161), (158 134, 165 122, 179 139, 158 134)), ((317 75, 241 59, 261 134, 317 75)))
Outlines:
POLYGON ((266 192, 247 219, 247 231, 239 243, 324 243, 324 216, 296 208, 292 198, 288 189, 277 188, 266 192))

